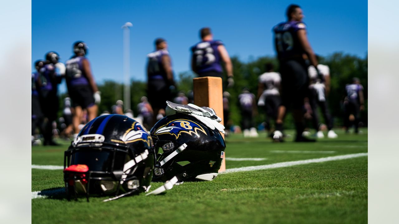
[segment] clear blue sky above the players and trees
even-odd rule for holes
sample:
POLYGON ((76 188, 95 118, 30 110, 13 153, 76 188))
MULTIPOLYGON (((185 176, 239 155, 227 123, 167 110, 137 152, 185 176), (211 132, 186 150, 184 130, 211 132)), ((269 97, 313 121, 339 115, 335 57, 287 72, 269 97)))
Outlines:
MULTIPOLYGON (((189 48, 199 41, 202 27, 212 29, 214 39, 225 43, 230 56, 251 61, 274 56, 271 29, 285 21, 289 4, 304 11, 313 50, 323 56, 342 51, 359 57, 367 54, 367 1, 285 0, 144 0, 144 1, 48 1, 32 0, 32 64, 47 51, 56 51, 65 62, 72 44, 82 40, 98 83, 122 82, 121 26, 131 22, 130 75, 145 81, 146 55, 154 40, 168 41, 175 77, 189 71, 189 48)), ((34 66, 32 66, 34 69, 34 66)), ((65 84, 60 86, 65 91, 65 84)))

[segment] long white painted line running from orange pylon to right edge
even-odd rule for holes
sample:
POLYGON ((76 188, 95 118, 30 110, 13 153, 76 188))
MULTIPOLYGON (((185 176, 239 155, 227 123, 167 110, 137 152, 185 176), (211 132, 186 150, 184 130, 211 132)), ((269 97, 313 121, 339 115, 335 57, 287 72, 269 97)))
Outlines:
POLYGON ((255 170, 264 170, 264 169, 274 169, 280 167, 291 167, 296 165, 303 165, 309 163, 323 163, 327 161, 335 161, 341 159, 352 159, 356 157, 367 156, 367 153, 356 153, 356 154, 348 154, 348 155, 337 155, 337 156, 329 156, 319 159, 305 159, 305 160, 298 160, 298 161, 290 161, 290 162, 281 162, 281 163, 273 163, 268 165, 259 165, 259 166, 250 166, 250 167, 239 167, 239 168, 232 168, 226 169, 226 171, 221 172, 220 174, 225 173, 236 173, 236 172, 243 172, 243 171, 255 171, 255 170))

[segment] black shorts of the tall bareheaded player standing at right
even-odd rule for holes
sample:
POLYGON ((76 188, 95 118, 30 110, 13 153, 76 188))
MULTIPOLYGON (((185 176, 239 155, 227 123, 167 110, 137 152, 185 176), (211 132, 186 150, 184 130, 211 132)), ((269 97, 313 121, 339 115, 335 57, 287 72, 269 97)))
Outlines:
POLYGON ((304 98, 308 93, 308 69, 304 61, 280 61, 281 73, 281 101, 289 108, 301 109, 304 98))

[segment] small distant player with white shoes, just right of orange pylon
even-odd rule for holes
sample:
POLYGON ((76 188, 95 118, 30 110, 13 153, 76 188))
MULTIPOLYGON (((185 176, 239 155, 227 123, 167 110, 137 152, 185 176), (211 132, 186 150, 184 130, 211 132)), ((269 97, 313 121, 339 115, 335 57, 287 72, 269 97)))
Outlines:
POLYGON ((241 106, 241 129, 244 132, 244 137, 258 137, 258 132, 253 122, 253 116, 257 114, 255 95, 249 92, 248 88, 244 88, 238 99, 241 106))

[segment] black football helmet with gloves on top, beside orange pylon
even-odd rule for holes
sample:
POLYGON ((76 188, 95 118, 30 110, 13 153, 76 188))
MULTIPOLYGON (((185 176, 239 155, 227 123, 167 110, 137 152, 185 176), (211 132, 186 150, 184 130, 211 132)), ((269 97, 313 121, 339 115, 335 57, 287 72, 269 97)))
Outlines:
POLYGON ((157 155, 152 181, 179 182, 217 177, 224 157, 225 141, 196 118, 182 113, 166 116, 150 131, 157 155))

